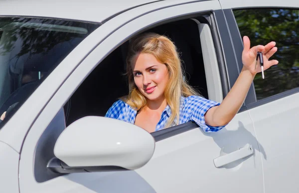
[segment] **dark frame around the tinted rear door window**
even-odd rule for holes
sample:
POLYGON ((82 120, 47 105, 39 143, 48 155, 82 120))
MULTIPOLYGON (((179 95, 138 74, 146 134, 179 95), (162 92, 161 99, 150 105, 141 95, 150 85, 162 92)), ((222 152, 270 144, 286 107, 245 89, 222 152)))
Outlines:
MULTIPOLYGON (((254 9, 254 8, 260 9, 261 7, 242 7, 242 9, 254 9)), ((267 9, 267 8, 283 8, 283 9, 298 9, 299 10, 299 7, 283 7, 283 6, 281 6, 281 7, 268 6, 268 7, 262 7, 262 8, 265 8, 265 9, 267 9)), ((242 69, 242 66, 243 66, 243 64, 242 64, 243 40, 242 40, 242 37, 240 34, 238 24, 236 22, 234 13, 233 13, 234 9, 240 9, 240 8, 223 9, 223 12, 224 12, 225 18, 226 18, 228 26, 229 26, 229 31, 232 34, 232 37, 234 37, 234 38, 232 38, 232 42, 233 42, 234 50, 237 55, 238 71, 239 71, 238 75, 239 75, 240 70, 242 69)), ((236 73, 234 72, 234 69, 232 69, 232 66, 230 66, 228 71, 229 71, 229 75, 230 75, 230 80, 231 80, 231 82, 234 83, 236 81, 236 78, 235 78, 236 73), (234 77, 234 78, 232 78, 232 77, 234 77)), ((246 109, 249 110, 249 109, 282 99, 284 97, 296 94, 298 92, 299 92, 299 87, 272 95, 270 97, 266 97, 261 100, 257 100, 254 82, 252 82, 249 92, 245 99, 245 106, 246 106, 246 109)))

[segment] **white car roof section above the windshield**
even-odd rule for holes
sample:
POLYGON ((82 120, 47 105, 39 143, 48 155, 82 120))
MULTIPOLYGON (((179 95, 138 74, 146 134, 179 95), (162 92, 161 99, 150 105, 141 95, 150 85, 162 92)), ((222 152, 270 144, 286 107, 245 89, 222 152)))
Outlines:
POLYGON ((102 22, 160 0, 0 0, 0 16, 34 16, 102 22))

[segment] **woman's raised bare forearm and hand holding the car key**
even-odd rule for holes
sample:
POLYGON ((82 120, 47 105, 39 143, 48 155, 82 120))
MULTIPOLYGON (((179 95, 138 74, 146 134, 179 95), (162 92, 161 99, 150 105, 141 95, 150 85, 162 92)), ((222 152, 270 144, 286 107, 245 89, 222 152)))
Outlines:
POLYGON ((247 36, 243 37, 244 49, 242 52, 243 68, 234 86, 219 106, 210 108, 205 114, 205 122, 210 126, 223 126, 228 124, 241 108, 250 85, 261 67, 258 61, 256 67, 257 52, 263 53, 264 70, 278 64, 277 60, 269 58, 277 51, 275 42, 272 41, 267 45, 258 45, 250 48, 250 40, 247 36))

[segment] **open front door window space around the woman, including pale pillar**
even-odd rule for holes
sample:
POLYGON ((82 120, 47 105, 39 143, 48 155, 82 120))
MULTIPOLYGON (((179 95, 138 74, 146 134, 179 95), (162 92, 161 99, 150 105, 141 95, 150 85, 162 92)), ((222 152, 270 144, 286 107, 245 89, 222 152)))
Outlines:
MULTIPOLYGON (((146 32, 168 36, 178 48, 189 84, 203 97, 222 101, 215 47, 204 17, 160 24, 146 32)), ((128 46, 129 40, 111 52, 75 91, 64 106, 67 126, 85 116, 105 116, 114 102, 128 94, 124 75, 128 46)))

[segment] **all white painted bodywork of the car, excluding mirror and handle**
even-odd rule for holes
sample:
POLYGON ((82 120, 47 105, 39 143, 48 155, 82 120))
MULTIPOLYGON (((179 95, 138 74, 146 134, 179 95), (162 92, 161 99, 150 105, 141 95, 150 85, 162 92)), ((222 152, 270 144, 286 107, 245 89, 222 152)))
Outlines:
MULTIPOLYGON (((105 7, 96 6, 102 3, 99 1, 90 1, 91 4, 82 2, 75 1, 72 12, 66 11, 69 9, 69 1, 59 1, 61 5, 58 8, 45 0, 30 1, 27 4, 19 0, 2 1, 0 14, 100 22, 116 12, 149 1, 130 1, 126 5, 109 1, 109 6, 105 7), (43 7, 44 5, 47 6, 43 7), (84 8, 85 6, 91 8, 84 8)), ((184 0, 154 2, 108 20, 58 65, 0 130, 0 152, 5 155, 5 159, 0 159, 0 192, 4 190, 3 192, 17 193, 18 183, 20 193, 131 193, 140 189, 145 192, 171 193, 223 190, 231 193, 280 193, 298 190, 297 170, 294 170, 298 162, 298 132, 295 124, 296 112, 299 110, 295 105, 299 102, 298 94, 239 113, 226 129, 215 134, 203 133, 198 128, 156 142, 152 159, 145 167, 136 171, 70 174, 45 183, 35 181, 33 156, 39 137, 78 84, 111 50, 135 31, 151 23, 178 14, 221 8, 217 0, 168 7, 183 2, 184 0), (151 12, 163 7, 163 10, 151 12), (144 13, 148 14, 143 15, 144 13), (221 169, 216 169, 213 165, 214 158, 236 151, 247 143, 255 151, 253 156, 221 169)), ((270 5, 299 7, 297 1, 288 1, 286 4, 285 1, 277 0, 220 0, 220 3, 222 8, 270 5)))

